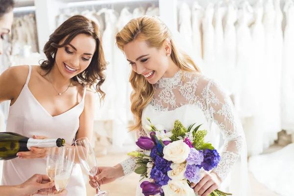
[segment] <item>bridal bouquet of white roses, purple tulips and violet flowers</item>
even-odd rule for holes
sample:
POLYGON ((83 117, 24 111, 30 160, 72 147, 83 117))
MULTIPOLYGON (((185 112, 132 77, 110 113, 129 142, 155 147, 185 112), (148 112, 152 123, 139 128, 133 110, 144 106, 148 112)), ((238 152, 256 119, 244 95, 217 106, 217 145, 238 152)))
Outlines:
MULTIPOLYGON (((144 129, 150 132, 149 137, 141 136, 136 145, 137 151, 128 155, 136 159, 141 174, 142 193, 145 196, 195 196, 191 183, 200 181, 200 172, 211 171, 220 162, 221 156, 211 144, 204 142, 207 130, 199 130, 196 123, 187 129, 176 120, 171 132, 163 130, 162 125, 150 125, 144 129)), ((220 190, 213 191, 210 196, 227 196, 220 190)))

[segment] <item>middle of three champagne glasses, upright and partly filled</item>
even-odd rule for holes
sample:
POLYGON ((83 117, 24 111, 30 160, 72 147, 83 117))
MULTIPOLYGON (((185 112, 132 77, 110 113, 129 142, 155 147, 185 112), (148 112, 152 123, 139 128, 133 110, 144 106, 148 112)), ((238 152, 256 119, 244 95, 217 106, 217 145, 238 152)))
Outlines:
POLYGON ((70 181, 73 171, 74 150, 74 147, 62 147, 59 149, 54 176, 55 188, 57 191, 65 189, 70 181))

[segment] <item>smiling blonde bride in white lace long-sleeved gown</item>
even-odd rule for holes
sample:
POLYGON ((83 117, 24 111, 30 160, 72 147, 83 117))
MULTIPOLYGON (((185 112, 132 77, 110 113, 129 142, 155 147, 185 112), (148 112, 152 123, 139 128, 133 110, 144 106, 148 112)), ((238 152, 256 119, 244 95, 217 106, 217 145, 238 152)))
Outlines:
MULTIPOLYGON (((226 184, 227 189, 221 190, 248 196, 248 181, 244 181, 247 179, 245 137, 230 98, 213 80, 200 73, 189 55, 175 46, 171 31, 159 18, 144 16, 131 20, 117 34, 116 41, 132 67, 129 81, 133 87, 131 111, 135 124, 130 129, 136 130, 138 136, 149 137, 149 132, 142 128, 148 123, 147 117, 167 131, 172 130, 175 120, 186 127, 203 123, 202 128, 208 130, 206 141, 217 147, 219 137, 213 124, 218 125, 225 140, 222 150, 218 148, 221 161, 194 185, 194 191, 196 195, 208 196, 226 184), (244 168, 235 170, 234 165, 244 168), (226 179, 234 181, 234 185, 225 183, 226 179)), ((129 158, 114 167, 100 167, 95 179, 106 184, 135 169, 135 160, 129 158)), ((90 178, 92 187, 95 179, 90 178)), ((136 196, 143 196, 140 186, 136 196)))

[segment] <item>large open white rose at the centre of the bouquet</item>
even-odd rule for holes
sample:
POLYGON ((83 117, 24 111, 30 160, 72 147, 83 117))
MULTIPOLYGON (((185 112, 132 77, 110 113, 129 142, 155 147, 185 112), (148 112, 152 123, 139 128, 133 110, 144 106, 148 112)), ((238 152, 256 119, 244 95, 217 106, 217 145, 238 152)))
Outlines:
POLYGON ((183 140, 172 142, 163 148, 163 158, 173 163, 183 163, 188 158, 189 153, 190 147, 183 140))

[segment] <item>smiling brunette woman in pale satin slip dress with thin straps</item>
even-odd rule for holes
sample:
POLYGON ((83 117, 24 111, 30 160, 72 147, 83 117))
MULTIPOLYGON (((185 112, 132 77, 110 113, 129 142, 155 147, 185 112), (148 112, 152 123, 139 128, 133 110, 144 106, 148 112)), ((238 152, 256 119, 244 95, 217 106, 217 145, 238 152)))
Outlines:
MULTIPOLYGON (((61 137, 67 146, 81 137, 91 141, 95 113, 91 87, 96 85, 100 99, 105 96, 101 85, 106 61, 98 25, 73 16, 50 35, 44 52, 47 60, 41 66, 16 66, 0 75, 0 102, 10 100, 11 105, 7 131, 36 139, 61 137)), ((46 174, 47 151, 31 147, 4 162, 2 185, 22 184, 34 173, 46 174)), ((68 195, 86 196, 81 176, 76 165, 68 195)))

